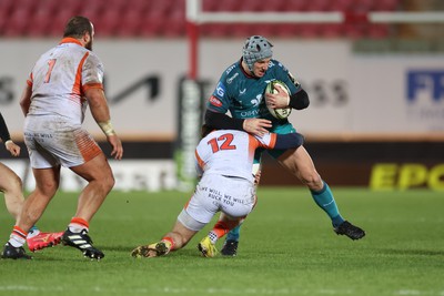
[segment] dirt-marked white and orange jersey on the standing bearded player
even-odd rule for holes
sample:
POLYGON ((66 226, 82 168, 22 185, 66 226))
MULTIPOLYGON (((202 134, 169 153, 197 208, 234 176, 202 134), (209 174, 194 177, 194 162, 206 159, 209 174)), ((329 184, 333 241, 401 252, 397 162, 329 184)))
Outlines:
POLYGON ((27 83, 32 86, 28 115, 61 115, 81 124, 88 88, 103 89, 103 64, 73 38, 64 38, 36 62, 27 83))

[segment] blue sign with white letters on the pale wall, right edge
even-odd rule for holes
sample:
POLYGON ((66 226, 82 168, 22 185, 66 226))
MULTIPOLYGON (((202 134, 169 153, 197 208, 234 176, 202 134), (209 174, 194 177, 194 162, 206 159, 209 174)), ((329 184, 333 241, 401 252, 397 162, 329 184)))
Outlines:
POLYGON ((435 102, 444 100, 444 70, 407 72, 407 100, 414 102, 420 95, 427 95, 435 102))

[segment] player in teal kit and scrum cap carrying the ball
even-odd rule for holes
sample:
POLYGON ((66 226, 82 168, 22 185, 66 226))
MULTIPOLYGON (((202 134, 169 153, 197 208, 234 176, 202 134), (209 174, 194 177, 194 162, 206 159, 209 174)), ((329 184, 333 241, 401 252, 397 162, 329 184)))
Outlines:
MULTIPOLYGON (((280 80, 290 89, 290 95, 280 88, 276 88, 278 93, 266 94, 268 103, 272 108, 291 106, 303 110, 310 104, 309 95, 289 70, 281 62, 272 59, 272 47, 270 41, 261 35, 246 39, 241 60, 222 73, 206 103, 205 123, 208 125, 219 130, 245 131, 255 135, 268 132, 295 132, 286 119, 278 120, 268 111, 265 88, 269 82, 280 80), (226 114, 229 111, 231 116, 226 114)), ((351 239, 365 236, 363 229, 341 216, 332 191, 316 172, 310 154, 303 146, 297 150, 273 150, 268 153, 309 187, 314 202, 331 218, 336 234, 346 235, 351 239)), ((256 155, 256 163, 255 167, 260 175, 260 153, 256 155)), ((240 226, 228 234, 221 251, 223 255, 236 255, 239 235, 240 226)))

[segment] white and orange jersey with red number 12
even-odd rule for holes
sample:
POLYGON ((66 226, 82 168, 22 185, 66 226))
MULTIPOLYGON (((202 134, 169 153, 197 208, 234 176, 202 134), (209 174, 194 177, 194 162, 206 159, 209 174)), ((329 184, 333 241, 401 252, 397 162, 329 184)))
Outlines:
POLYGON ((198 172, 238 176, 253 182, 254 151, 258 147, 273 149, 275 143, 274 133, 260 137, 242 131, 213 131, 195 149, 198 172))

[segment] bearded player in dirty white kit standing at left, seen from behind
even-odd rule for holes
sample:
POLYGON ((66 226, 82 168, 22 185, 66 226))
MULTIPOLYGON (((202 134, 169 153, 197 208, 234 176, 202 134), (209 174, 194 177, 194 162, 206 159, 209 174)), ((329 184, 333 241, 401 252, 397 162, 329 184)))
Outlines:
POLYGON ((27 81, 20 105, 36 190, 23 204, 3 258, 31 258, 22 245, 59 188, 61 165, 88 182, 61 241, 91 259, 104 256, 92 245, 89 223, 112 190, 114 176, 104 153, 81 126, 88 105, 111 145, 111 156, 121 160, 123 147, 111 124, 102 84, 103 64, 92 52, 93 38, 89 19, 71 18, 61 42, 40 57, 27 81))

